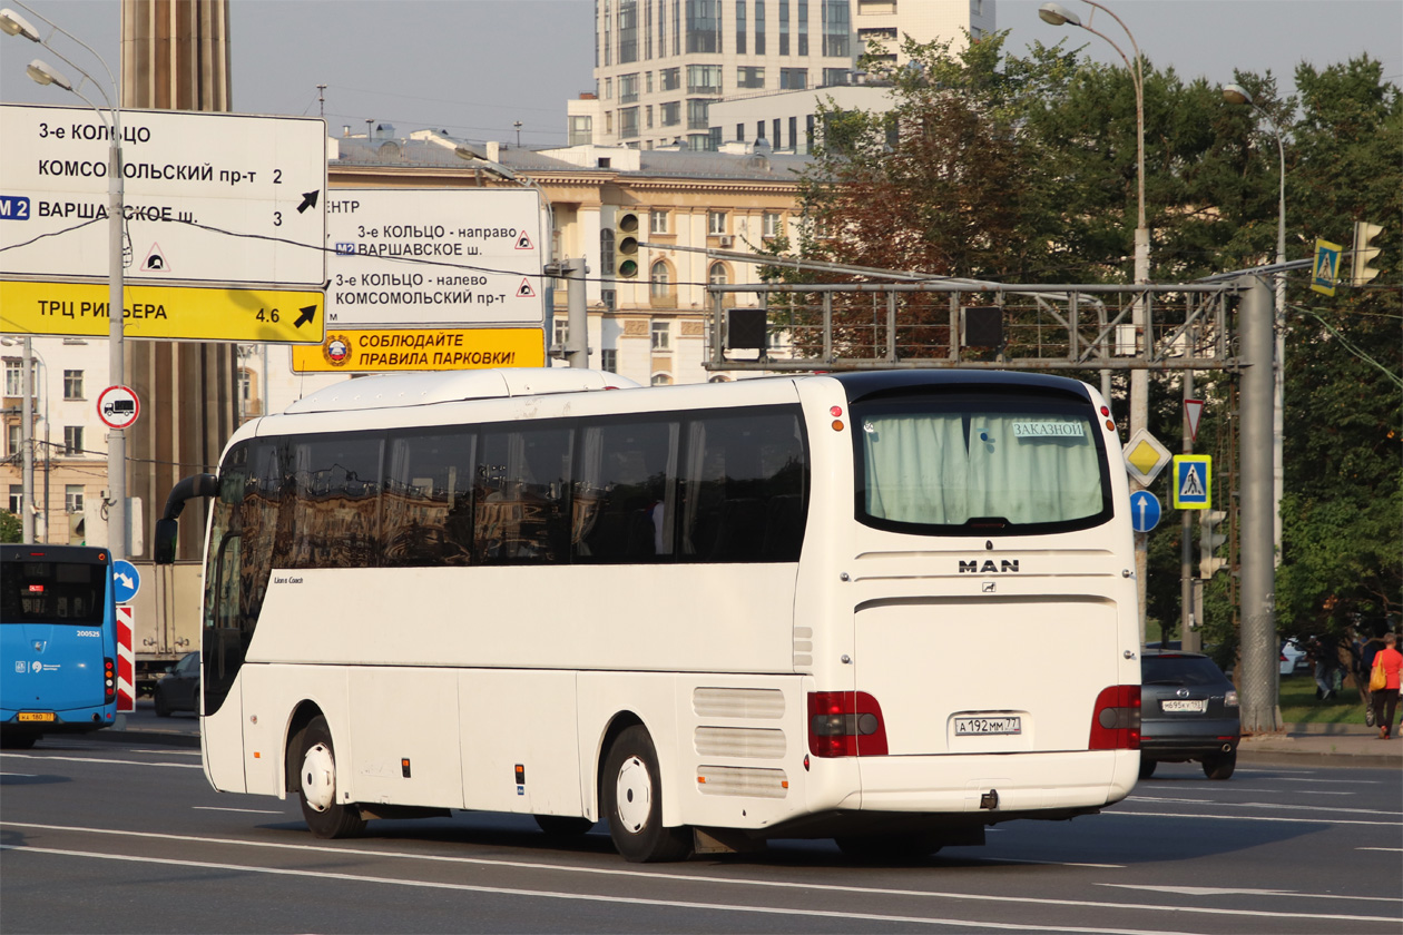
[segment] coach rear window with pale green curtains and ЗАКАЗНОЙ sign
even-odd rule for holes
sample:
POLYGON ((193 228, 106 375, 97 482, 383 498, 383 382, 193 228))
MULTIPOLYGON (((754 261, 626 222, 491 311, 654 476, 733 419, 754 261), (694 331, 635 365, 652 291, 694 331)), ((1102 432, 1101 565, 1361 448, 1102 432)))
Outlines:
POLYGON ((1097 526, 1113 510, 1094 416, 1087 401, 1056 394, 854 404, 857 519, 947 535, 1097 526))

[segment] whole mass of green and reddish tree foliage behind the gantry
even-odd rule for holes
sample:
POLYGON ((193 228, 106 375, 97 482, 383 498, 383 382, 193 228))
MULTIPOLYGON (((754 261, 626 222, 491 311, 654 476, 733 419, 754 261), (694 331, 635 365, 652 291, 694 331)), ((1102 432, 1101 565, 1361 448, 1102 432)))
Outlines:
MULTIPOLYGON (((901 67, 866 62, 891 87, 890 112, 824 109, 824 143, 800 179, 808 224, 794 254, 996 282, 1129 282, 1141 179, 1131 73, 1061 42, 1013 55, 1005 35, 955 53, 946 42, 908 41, 904 52, 911 63, 901 67)), ((1302 64, 1295 77, 1299 97, 1281 98, 1273 74, 1236 74, 1256 102, 1244 107, 1202 79, 1143 63, 1150 278, 1186 282, 1273 262, 1282 161, 1288 259, 1310 257, 1316 238, 1348 250, 1354 221, 1383 226, 1374 264, 1382 272, 1369 286, 1341 285, 1324 297, 1309 289, 1309 272, 1288 275, 1277 613, 1285 634, 1397 627, 1403 105, 1368 56, 1320 70, 1302 64)), ((776 272, 788 282, 839 279, 776 272)), ((801 306, 796 299, 788 311, 801 306)), ((873 341, 868 306, 835 301, 839 346, 873 341)), ((1181 314, 1167 303, 1156 308, 1160 322, 1181 314)), ((943 353, 944 297, 913 300, 901 315, 901 353, 943 353)), ((1230 374, 1197 374, 1195 395, 1208 405, 1194 449, 1215 457, 1215 502, 1229 510, 1235 385, 1230 374)), ((1124 398, 1124 377, 1115 395, 1124 398)), ((1150 380, 1149 408, 1149 429, 1181 450, 1177 376, 1150 380)), ((1191 528, 1197 540, 1197 523, 1191 528)), ((1180 620, 1180 535, 1170 510, 1149 548, 1148 610, 1170 636, 1180 620)), ((1195 573, 1197 551, 1194 541, 1195 573)), ((1225 653, 1237 645, 1235 600, 1230 573, 1207 583, 1204 638, 1225 653)))

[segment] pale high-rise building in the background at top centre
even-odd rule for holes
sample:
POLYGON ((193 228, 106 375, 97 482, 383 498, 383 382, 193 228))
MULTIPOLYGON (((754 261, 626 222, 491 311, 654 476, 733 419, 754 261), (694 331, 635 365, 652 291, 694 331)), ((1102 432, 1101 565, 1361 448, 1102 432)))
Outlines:
POLYGON ((804 153, 817 101, 860 83, 868 43, 899 63, 905 35, 958 46, 993 29, 995 0, 596 0, 595 90, 567 104, 568 140, 804 153), (737 100, 748 119, 717 119, 737 100))

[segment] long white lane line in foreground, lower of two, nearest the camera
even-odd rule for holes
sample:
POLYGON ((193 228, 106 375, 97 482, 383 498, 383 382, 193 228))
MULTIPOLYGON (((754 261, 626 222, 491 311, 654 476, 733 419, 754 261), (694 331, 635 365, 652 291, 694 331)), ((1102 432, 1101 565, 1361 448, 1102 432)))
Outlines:
MULTIPOLYGON (((880 915, 875 913, 838 913, 810 908, 791 908, 779 906, 735 906, 731 903, 692 903, 685 900, 651 900, 637 896, 596 896, 589 893, 563 893, 560 890, 526 890, 506 886, 477 886, 473 883, 435 883, 431 880, 404 880, 393 876, 365 876, 361 873, 333 873, 328 871, 299 871, 292 868, 250 866, 246 864, 215 864, 209 861, 181 861, 153 856, 128 856, 122 854, 94 854, 91 851, 69 851, 60 848, 41 848, 29 845, 0 844, 0 851, 28 851, 31 854, 52 854, 58 856, 87 856, 98 861, 126 861, 130 864, 159 864, 182 868, 202 868, 208 871, 240 871, 244 873, 269 873, 274 876, 303 876, 318 880, 335 880, 347 883, 382 883, 384 886, 408 886, 431 890, 455 890, 459 893, 487 893, 491 896, 526 896, 536 899, 556 899, 579 903, 612 903, 620 906, 652 906, 662 908, 703 910, 710 913, 755 913, 759 915, 798 915, 805 918, 836 918, 843 921, 863 922, 904 922, 909 925, 953 925, 958 928, 993 928, 1014 932, 1045 932, 1047 922, 1019 924, 1019 922, 985 922, 967 918, 930 918, 920 915, 880 915)), ((659 879, 672 879, 658 875, 659 879)), ((1111 904, 1106 904, 1111 906, 1111 904)), ((1310 918, 1310 917, 1305 917, 1310 918)), ((1338 917, 1357 920, 1360 917, 1338 917)), ((1379 920, 1389 921, 1389 920, 1379 920)), ((1080 932, 1083 935, 1190 935, 1188 932, 1162 932, 1160 929, 1143 928, 1089 928, 1089 927, 1058 927, 1061 932, 1080 932)))

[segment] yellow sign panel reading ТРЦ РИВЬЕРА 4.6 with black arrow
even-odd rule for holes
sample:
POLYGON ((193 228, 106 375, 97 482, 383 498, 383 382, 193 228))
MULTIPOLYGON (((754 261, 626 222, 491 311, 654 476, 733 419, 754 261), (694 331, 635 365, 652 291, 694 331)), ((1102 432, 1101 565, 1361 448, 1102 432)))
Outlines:
MULTIPOLYGON (((320 292, 128 285, 122 294, 128 338, 317 343, 324 336, 320 292)), ((0 331, 105 338, 107 308, 105 283, 0 282, 0 331)))

